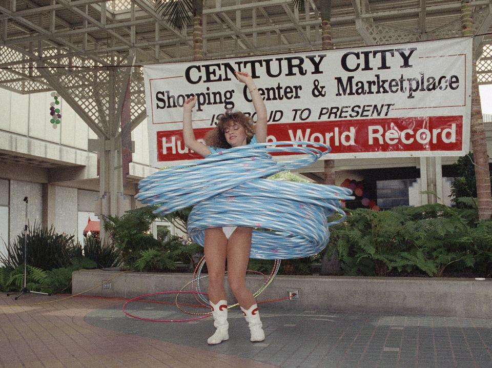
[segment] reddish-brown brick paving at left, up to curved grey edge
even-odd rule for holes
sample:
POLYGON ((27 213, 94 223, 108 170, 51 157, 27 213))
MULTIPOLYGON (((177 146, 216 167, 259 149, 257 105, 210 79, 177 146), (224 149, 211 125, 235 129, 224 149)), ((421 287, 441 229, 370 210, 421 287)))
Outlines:
MULTIPOLYGON (((24 304, 61 297, 26 295, 14 301, 5 294, 0 304, 24 304)), ((2 367, 172 367, 272 368, 252 359, 197 349, 133 333, 91 325, 87 313, 121 301, 92 298, 32 306, 0 308, 2 367)), ((122 315, 122 314, 121 314, 122 315)))

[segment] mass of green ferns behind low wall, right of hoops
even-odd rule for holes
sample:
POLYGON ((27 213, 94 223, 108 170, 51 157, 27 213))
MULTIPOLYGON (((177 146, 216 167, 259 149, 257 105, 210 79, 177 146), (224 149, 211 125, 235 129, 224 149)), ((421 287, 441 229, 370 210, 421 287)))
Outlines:
MULTIPOLYGON (((492 264, 490 221, 476 225, 476 211, 443 205, 349 211, 332 229, 346 275, 385 276, 417 270, 429 276, 455 271, 486 272, 492 264)), ((490 272, 490 271, 489 271, 490 272)), ((472 272, 473 273, 473 272, 472 272)))

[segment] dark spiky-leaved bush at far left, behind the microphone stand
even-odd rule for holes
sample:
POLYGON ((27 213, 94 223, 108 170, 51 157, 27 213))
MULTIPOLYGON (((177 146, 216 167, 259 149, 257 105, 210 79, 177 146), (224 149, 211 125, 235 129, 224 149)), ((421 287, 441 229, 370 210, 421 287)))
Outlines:
MULTIPOLYGON (((28 226, 27 231, 27 264, 42 270, 64 267, 77 252, 73 238, 73 235, 57 234, 53 226, 47 229, 34 222, 32 227, 28 226)), ((17 235, 10 246, 10 257, 0 254, 0 263, 9 268, 23 265, 25 239, 24 232, 17 235)))

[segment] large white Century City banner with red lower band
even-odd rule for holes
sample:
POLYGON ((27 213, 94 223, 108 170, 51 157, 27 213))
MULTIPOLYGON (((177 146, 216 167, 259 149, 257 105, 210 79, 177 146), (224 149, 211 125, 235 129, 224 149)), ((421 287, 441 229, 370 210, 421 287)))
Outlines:
POLYGON ((195 159, 182 105, 197 96, 201 139, 226 109, 255 112, 234 70, 252 75, 268 139, 330 145, 325 158, 459 156, 469 150, 472 38, 144 67, 151 165, 195 159))

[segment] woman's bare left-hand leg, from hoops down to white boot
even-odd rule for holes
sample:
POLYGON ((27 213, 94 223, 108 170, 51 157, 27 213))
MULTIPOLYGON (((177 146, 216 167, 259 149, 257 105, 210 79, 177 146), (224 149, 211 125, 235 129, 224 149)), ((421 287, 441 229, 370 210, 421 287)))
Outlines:
POLYGON ((227 299, 224 289, 227 238, 222 228, 205 229, 203 248, 209 272, 209 300, 216 304, 219 300, 227 299))

